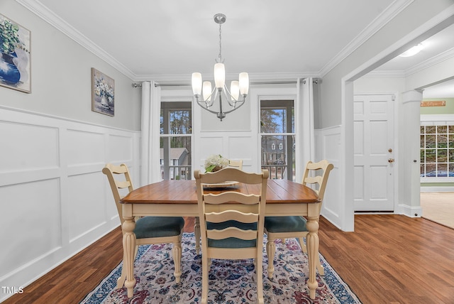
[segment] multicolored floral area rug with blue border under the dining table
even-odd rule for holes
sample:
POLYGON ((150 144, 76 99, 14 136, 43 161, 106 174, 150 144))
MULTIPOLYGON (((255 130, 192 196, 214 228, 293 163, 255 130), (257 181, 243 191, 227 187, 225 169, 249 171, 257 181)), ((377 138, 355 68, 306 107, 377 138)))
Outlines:
MULTIPOLYGON (((266 239, 265 239, 266 242, 266 239)), ((267 278, 268 259, 263 252, 263 293, 265 303, 360 303, 357 296, 320 255, 324 276, 317 274, 319 288, 315 300, 309 298, 306 281, 309 267, 306 254, 297 239, 277 241, 275 273, 267 278)), ((109 276, 94 288, 81 303, 184 303, 201 302, 201 256, 196 254, 194 234, 184 233, 182 239, 181 283, 175 283, 170 244, 143 245, 135 259, 134 295, 128 299, 126 288, 114 289, 121 275, 119 264, 109 276)), ((209 273, 210 304, 256 303, 257 284, 253 260, 212 260, 209 273)))

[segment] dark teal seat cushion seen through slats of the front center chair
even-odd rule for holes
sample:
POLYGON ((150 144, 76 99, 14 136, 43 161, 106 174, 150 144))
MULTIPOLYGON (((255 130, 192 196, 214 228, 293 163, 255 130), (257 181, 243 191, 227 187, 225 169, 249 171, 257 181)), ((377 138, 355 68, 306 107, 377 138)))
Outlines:
MULTIPOLYGON (((221 223, 206 222, 206 229, 217 229, 222 230, 227 227, 237 227, 242 230, 255 230, 257 229, 257 223, 241 223, 237 221, 226 221, 221 223)), ((229 237, 227 239, 208 239, 209 247, 216 248, 248 248, 255 247, 256 239, 244 240, 237 239, 236 237, 229 237)))

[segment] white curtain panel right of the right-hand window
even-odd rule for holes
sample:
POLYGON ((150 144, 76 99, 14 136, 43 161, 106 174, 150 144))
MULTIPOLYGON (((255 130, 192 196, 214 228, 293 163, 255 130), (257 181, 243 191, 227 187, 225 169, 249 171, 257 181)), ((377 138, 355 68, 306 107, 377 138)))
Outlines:
POLYGON ((303 180, 304 167, 308 161, 316 161, 314 148, 314 80, 298 80, 297 104, 295 104, 295 163, 297 163, 296 180, 303 180))

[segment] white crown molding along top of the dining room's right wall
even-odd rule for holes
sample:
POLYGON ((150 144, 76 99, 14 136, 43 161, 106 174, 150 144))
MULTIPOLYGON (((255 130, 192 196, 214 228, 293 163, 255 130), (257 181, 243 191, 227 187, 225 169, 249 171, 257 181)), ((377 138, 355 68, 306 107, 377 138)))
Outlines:
POLYGON ((374 36, 377 31, 386 25, 389 21, 392 20, 395 16, 397 16, 401 11, 406 9, 414 0, 396 0, 392 4, 390 4, 387 9, 384 10, 380 16, 377 16, 361 33, 356 36, 348 45, 345 46, 341 50, 338 55, 334 56, 324 67, 321 68, 319 71, 319 75, 321 77, 325 76, 333 70, 339 63, 341 63, 345 58, 347 58, 351 53, 357 50, 365 41, 367 41, 370 37, 374 36))

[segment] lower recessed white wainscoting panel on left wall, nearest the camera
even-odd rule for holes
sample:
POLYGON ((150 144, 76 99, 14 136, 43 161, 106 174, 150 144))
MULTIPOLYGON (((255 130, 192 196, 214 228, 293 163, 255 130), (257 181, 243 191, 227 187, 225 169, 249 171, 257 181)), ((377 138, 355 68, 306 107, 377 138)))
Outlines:
POLYGON ((61 247, 62 235, 57 179, 0 187, 0 197, 1 277, 61 247))

